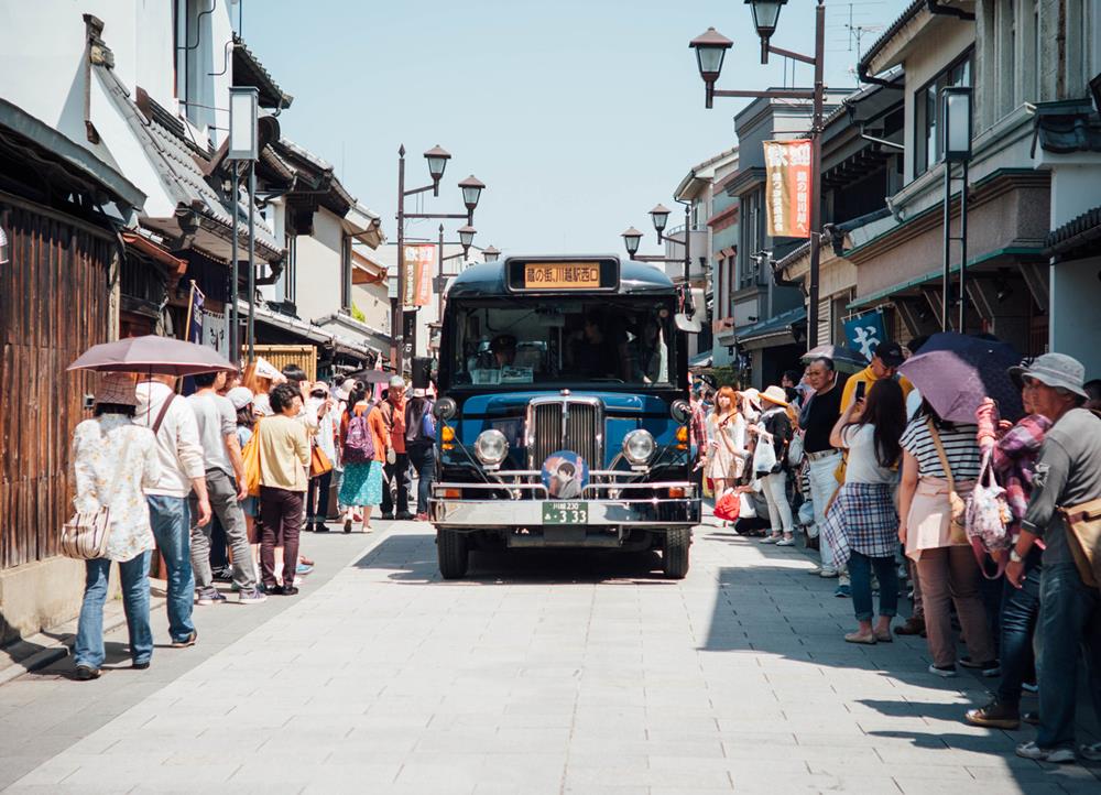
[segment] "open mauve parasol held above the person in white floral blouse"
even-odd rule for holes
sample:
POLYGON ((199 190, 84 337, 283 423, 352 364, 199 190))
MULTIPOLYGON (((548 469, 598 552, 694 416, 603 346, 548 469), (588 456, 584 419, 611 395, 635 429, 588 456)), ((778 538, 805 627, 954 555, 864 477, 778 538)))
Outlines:
POLYGON ((95 345, 66 369, 157 375, 194 375, 200 372, 237 370, 212 348, 152 334, 95 345))

